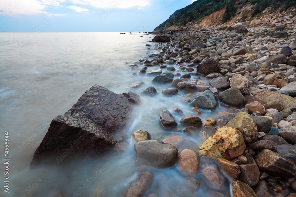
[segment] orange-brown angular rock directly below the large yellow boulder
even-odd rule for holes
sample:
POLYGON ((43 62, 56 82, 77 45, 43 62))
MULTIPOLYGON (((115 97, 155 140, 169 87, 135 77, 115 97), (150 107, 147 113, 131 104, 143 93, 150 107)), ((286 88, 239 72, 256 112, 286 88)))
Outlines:
POLYGON ((216 164, 232 181, 239 179, 241 173, 239 165, 223 158, 217 158, 216 164))

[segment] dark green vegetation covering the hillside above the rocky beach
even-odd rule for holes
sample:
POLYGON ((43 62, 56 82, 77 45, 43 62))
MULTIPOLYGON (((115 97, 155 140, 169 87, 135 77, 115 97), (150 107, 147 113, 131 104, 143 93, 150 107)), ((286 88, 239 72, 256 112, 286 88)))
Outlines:
POLYGON ((232 19, 238 9, 246 3, 254 5, 252 16, 256 17, 267 7, 288 9, 296 5, 296 0, 197 0, 185 8, 174 12, 165 22, 158 25, 155 31, 162 31, 165 27, 186 26, 187 23, 196 21, 197 23, 206 16, 216 12, 226 6, 226 12, 223 16, 223 22, 232 19))

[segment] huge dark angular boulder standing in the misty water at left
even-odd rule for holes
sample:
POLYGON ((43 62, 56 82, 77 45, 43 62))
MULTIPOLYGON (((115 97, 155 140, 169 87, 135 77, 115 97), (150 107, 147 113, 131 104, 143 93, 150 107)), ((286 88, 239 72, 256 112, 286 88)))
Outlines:
POLYGON ((135 103, 139 103, 139 96, 133 92, 115 94, 94 85, 70 110, 52 120, 30 165, 60 164, 78 154, 109 149, 115 145, 114 134, 126 125, 135 103))

